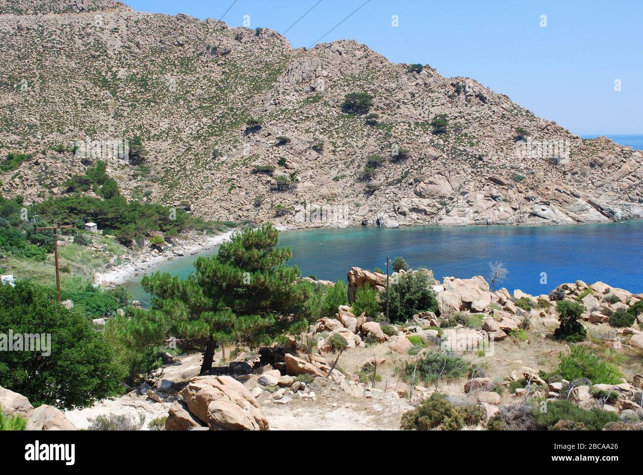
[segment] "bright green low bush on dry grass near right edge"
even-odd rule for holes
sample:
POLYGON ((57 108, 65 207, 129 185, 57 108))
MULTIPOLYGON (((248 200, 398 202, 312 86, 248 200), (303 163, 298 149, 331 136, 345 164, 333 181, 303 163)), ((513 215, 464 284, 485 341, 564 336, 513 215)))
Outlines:
POLYGON ((604 361, 589 348, 573 345, 568 355, 558 355, 556 373, 566 380, 588 378, 592 384, 620 384, 623 375, 619 369, 604 361))

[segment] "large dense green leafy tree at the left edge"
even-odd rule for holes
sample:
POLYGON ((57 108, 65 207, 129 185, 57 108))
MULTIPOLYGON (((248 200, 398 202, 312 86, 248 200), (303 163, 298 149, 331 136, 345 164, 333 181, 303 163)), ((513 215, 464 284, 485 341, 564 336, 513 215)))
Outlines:
POLYGON ((14 335, 51 335, 51 354, 0 351, 0 381, 33 405, 87 407, 121 392, 125 376, 102 333, 78 310, 61 305, 55 293, 18 281, 0 285, 0 328, 14 335))

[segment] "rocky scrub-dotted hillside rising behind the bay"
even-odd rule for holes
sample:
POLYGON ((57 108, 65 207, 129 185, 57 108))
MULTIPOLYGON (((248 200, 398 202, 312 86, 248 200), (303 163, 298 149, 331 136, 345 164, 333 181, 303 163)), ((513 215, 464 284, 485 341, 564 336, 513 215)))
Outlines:
POLYGON ((271 30, 111 0, 0 0, 0 42, 0 153, 33 154, 0 174, 5 196, 62 194, 70 174, 105 158, 73 154, 75 144, 139 135, 145 163, 109 160, 123 193, 206 218, 643 218, 642 153, 582 140, 475 80, 392 64, 355 41, 293 49, 271 30), (372 97, 370 110, 343 110, 354 92, 372 97))

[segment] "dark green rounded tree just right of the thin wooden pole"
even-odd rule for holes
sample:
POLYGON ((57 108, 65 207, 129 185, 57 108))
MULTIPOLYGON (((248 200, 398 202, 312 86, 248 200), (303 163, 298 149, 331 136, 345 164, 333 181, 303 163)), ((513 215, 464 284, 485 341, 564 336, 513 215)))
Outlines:
POLYGON ((435 293, 429 288, 428 276, 424 272, 409 272, 401 275, 390 286, 389 317, 392 322, 406 322, 415 313, 438 312, 435 293))

